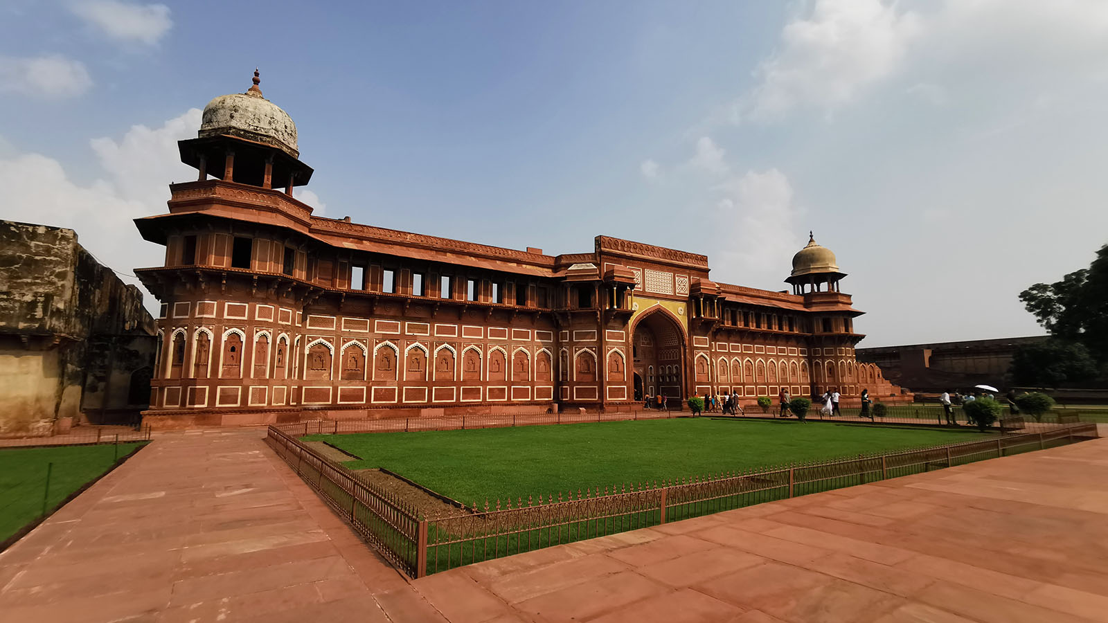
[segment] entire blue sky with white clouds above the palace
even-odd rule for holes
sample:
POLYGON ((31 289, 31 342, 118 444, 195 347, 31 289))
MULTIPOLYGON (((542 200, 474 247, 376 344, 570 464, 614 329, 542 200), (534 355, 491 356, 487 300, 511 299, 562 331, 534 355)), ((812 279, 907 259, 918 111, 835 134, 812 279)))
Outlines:
POLYGON ((158 264, 130 219, 256 65, 328 216, 547 253, 615 235, 771 289, 814 229, 863 345, 1040 333, 1017 293, 1108 242, 1096 0, 8 0, 0 217, 158 264))

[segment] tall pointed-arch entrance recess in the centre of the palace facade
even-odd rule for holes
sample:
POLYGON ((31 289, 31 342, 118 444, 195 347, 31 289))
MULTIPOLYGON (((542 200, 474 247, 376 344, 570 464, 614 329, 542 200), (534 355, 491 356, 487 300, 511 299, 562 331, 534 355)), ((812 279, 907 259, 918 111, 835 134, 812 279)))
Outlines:
POLYGON ((685 398, 684 343, 680 327, 664 312, 647 312, 635 325, 632 345, 635 376, 642 379, 642 399, 661 395, 676 401, 674 406, 679 408, 685 398))

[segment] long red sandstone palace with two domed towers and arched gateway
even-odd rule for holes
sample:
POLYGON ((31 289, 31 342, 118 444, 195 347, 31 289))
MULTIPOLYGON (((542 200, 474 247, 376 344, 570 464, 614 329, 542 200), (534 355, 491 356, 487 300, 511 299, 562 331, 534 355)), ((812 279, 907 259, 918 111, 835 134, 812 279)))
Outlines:
POLYGON ((792 259, 792 293, 715 283, 704 255, 596 236, 547 255, 315 216, 296 124, 261 95, 212 100, 138 268, 161 300, 154 427, 629 410, 736 391, 752 404, 900 388, 854 359, 862 313, 834 254, 792 259))

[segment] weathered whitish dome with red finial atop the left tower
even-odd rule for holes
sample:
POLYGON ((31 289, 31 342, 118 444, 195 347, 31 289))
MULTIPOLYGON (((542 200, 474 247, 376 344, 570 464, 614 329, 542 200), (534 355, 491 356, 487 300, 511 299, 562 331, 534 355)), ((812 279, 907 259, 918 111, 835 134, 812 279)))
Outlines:
POLYGON ((280 106, 261 96, 258 72, 254 85, 246 93, 220 95, 204 106, 199 137, 229 134, 258 141, 284 150, 299 157, 296 144, 296 124, 280 106))

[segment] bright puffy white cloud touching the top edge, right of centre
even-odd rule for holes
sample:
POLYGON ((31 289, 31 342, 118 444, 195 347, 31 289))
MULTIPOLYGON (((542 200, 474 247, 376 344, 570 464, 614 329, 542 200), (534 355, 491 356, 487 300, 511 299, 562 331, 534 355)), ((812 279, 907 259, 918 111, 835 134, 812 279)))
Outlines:
POLYGON ((881 0, 817 0, 781 32, 781 49, 756 71, 760 83, 737 120, 767 120, 801 106, 831 109, 892 74, 921 32, 911 11, 881 0))

